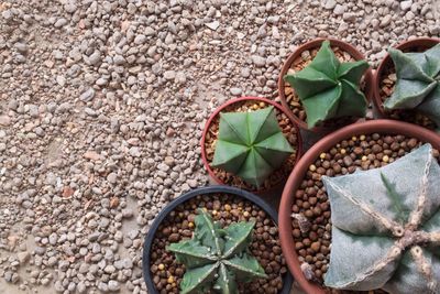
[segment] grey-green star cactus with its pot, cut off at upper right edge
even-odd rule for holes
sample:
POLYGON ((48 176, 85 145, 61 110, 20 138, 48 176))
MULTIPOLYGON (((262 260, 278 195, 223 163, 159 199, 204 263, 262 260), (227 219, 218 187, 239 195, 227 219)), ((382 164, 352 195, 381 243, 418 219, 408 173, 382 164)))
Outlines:
POLYGON ((438 129, 439 58, 439 39, 415 39, 389 48, 374 78, 374 105, 380 113, 438 129))

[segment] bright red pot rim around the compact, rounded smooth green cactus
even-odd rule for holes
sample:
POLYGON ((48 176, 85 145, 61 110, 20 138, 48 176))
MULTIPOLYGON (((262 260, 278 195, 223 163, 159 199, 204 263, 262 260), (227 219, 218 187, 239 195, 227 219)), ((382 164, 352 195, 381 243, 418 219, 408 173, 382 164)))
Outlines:
MULTIPOLYGON (((280 107, 278 104, 276 104, 276 102, 274 102, 274 101, 272 101, 272 100, 268 100, 268 99, 266 99, 266 98, 261 98, 261 97, 240 97, 240 98, 231 99, 231 100, 227 101, 226 104, 221 105, 220 107, 218 107, 218 108, 213 111, 213 113, 209 117, 207 123, 205 124, 204 133, 202 133, 202 135, 201 135, 201 141, 200 141, 200 145, 201 145, 201 160, 204 161, 205 168, 208 171, 210 177, 211 177, 215 182, 217 182, 218 184, 221 184, 221 185, 226 185, 226 184, 224 184, 220 178, 218 178, 218 177, 216 176, 216 174, 213 173, 213 171, 212 171, 212 168, 211 168, 211 166, 209 165, 208 160, 207 160, 207 153, 206 153, 206 150, 205 150, 206 135, 207 135, 208 130, 209 130, 209 128, 210 128, 210 126, 211 126, 211 123, 212 123, 212 120, 213 120, 221 111, 223 111, 227 107, 229 107, 229 106, 231 106, 231 105, 233 105, 233 104, 241 102, 241 101, 245 101, 245 100, 262 101, 262 102, 265 102, 265 104, 267 104, 267 105, 271 105, 271 106, 275 107, 276 109, 278 109, 278 110, 282 111, 283 113, 285 113, 285 115, 287 116, 287 118, 290 120, 290 122, 292 122, 292 124, 294 126, 294 128, 296 129, 296 131, 297 131, 296 133, 297 133, 297 142, 298 142, 298 144, 297 144, 297 146, 296 146, 297 155, 296 155, 295 164, 298 162, 299 157, 300 157, 301 154, 302 154, 302 141, 301 141, 301 135, 300 135, 300 133, 299 133, 299 128, 298 128, 298 126, 294 122, 292 116, 290 116, 283 107, 280 107)), ((284 183, 280 183, 280 184, 284 184, 284 183)), ((271 189, 272 189, 272 188, 274 188, 274 187, 271 187, 271 189)), ((266 190, 265 190, 265 189, 258 189, 258 190, 253 190, 253 192, 260 194, 260 193, 264 193, 264 192, 266 192, 266 190)))

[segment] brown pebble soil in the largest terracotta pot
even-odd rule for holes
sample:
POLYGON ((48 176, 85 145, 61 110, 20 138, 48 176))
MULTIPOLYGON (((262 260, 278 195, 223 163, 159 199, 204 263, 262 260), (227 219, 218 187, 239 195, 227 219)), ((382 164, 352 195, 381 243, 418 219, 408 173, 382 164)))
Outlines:
MULTIPOLYGON (((354 173, 356 168, 365 171, 381 167, 422 143, 404 135, 373 133, 353 137, 323 151, 309 166, 300 187, 296 190, 292 207, 293 214, 297 214, 292 219, 292 233, 301 268, 306 268, 305 263, 310 265, 307 268, 311 270, 316 283, 323 285, 323 274, 328 270, 331 250, 331 209, 321 176, 344 175, 354 173)), ((435 150, 433 155, 439 160, 439 151, 435 150)), ((334 290, 331 292, 338 293, 334 290)))

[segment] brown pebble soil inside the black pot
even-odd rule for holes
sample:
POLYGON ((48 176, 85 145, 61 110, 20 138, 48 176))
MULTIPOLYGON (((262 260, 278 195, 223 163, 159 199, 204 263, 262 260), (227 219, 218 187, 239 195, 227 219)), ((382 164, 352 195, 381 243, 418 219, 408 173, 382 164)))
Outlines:
POLYGON ((161 224, 153 240, 150 266, 157 292, 179 293, 185 266, 177 263, 174 254, 166 251, 165 247, 191 238, 197 208, 206 208, 213 220, 219 221, 222 227, 237 221, 256 222, 250 250, 264 268, 268 279, 241 284, 239 293, 278 293, 283 287, 283 275, 287 273, 279 246, 278 228, 262 208, 229 194, 200 195, 191 198, 177 206, 161 224))

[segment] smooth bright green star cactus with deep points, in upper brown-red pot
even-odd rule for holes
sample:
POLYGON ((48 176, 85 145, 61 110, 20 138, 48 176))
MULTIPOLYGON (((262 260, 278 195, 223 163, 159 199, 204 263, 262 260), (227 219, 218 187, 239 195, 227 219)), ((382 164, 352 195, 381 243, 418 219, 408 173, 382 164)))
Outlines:
POLYGON ((298 95, 312 128, 328 119, 365 117, 367 101, 359 87, 369 67, 365 61, 340 63, 324 41, 308 66, 284 79, 298 95))

